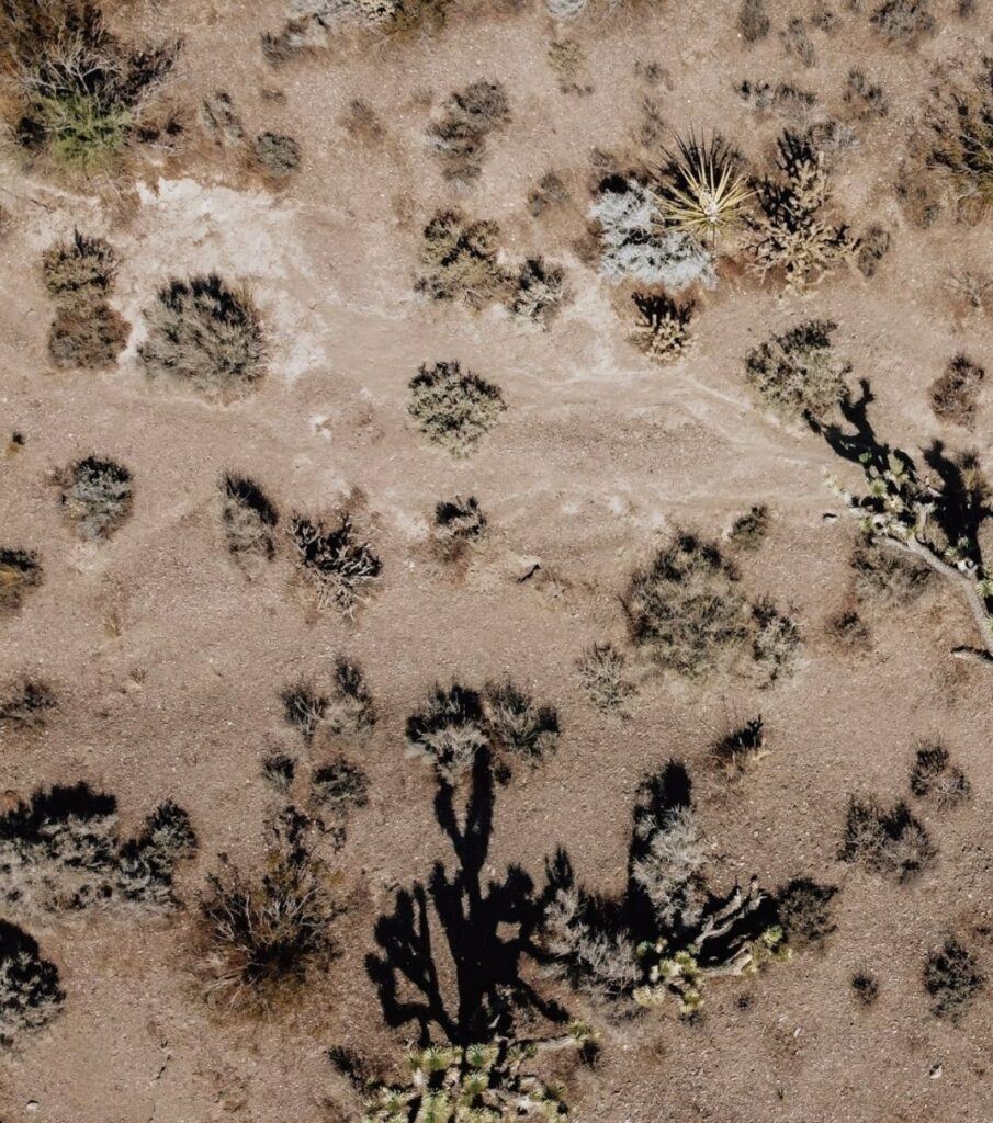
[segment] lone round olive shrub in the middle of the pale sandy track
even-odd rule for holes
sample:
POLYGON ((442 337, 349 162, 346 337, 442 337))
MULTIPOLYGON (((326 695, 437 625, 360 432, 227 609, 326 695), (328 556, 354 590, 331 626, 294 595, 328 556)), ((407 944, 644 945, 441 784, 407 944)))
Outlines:
POLYGON ((458 362, 425 364, 410 392, 410 416, 453 456, 467 456, 507 409, 499 386, 463 371, 458 362))

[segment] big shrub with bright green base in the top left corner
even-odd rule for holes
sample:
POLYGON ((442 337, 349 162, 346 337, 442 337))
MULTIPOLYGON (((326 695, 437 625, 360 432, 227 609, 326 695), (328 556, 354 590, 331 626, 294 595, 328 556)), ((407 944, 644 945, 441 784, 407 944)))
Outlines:
POLYGON ((17 144, 54 166, 112 166, 146 128, 179 43, 133 49, 89 0, 2 0, 0 75, 17 144))

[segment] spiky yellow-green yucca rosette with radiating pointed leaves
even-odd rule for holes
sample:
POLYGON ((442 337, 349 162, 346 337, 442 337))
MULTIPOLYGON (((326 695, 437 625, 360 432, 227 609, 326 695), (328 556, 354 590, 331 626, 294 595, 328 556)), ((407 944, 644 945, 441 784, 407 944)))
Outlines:
POLYGON ((754 192, 739 171, 738 156, 719 134, 710 140, 676 138, 675 152, 667 152, 656 204, 666 227, 674 227, 698 240, 717 241, 741 221, 754 192))

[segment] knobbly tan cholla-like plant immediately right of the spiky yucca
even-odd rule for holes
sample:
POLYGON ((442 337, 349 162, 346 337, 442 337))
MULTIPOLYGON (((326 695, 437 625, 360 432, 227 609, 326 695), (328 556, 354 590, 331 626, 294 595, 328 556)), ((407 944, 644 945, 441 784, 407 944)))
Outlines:
POLYGON ((828 173, 812 141, 789 129, 778 139, 777 172, 757 181, 757 213, 749 214, 748 248, 765 276, 789 285, 817 281, 857 252, 846 226, 821 217, 828 202, 828 173))

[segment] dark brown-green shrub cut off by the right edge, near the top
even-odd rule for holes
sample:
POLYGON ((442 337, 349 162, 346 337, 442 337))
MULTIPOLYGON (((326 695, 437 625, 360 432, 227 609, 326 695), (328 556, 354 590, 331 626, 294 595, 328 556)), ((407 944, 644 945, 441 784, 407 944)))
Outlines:
POLYGON ((921 145, 929 167, 944 173, 959 207, 993 203, 993 57, 972 80, 936 86, 923 115, 921 145))

